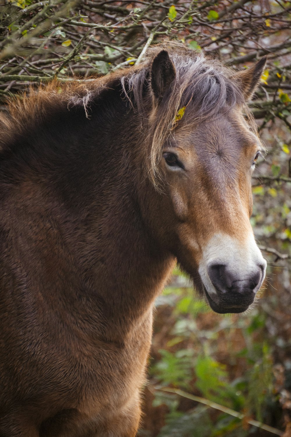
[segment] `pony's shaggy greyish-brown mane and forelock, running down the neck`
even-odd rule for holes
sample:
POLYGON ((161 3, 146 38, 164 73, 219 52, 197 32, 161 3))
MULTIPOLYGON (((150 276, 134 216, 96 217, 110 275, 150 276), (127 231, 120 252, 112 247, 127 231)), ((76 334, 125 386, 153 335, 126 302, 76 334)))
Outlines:
POLYGON ((239 83, 232 79, 233 74, 232 69, 220 62, 205 59, 204 55, 181 44, 159 44, 148 50, 146 59, 137 67, 117 70, 83 83, 68 81, 60 84, 54 80, 37 91, 31 89, 29 95, 10 99, 9 114, 0 114, 0 147, 9 149, 16 136, 25 135, 29 127, 37 129, 56 110, 83 107, 86 117, 90 118, 92 101, 98 101, 101 92, 119 84, 124 93, 121 97, 127 98, 139 114, 140 132, 148 153, 147 173, 157 185, 162 147, 175 127, 175 117, 181 107, 187 108, 178 128, 185 123, 195 125, 203 118, 212 118, 235 106, 248 115, 249 124, 253 126, 239 83), (153 111, 151 63, 161 49, 169 52, 176 76, 161 104, 153 111))

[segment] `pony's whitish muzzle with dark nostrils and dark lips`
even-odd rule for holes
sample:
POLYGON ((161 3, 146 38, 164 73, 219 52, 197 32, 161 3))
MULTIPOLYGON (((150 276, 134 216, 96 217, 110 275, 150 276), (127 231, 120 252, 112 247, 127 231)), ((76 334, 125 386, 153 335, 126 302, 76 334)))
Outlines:
POLYGON ((212 237, 203 250, 199 274, 213 311, 246 311, 264 281, 266 266, 253 234, 244 244, 221 234, 212 237))

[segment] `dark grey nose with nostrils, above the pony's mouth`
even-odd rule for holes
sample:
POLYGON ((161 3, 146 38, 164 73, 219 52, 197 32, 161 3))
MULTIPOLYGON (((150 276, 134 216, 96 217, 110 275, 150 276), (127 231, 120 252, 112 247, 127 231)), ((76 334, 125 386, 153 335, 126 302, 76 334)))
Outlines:
POLYGON ((240 278, 229 272, 227 265, 212 264, 207 267, 210 280, 214 287, 221 293, 232 291, 239 294, 256 292, 264 275, 263 265, 258 265, 257 269, 245 277, 240 278))

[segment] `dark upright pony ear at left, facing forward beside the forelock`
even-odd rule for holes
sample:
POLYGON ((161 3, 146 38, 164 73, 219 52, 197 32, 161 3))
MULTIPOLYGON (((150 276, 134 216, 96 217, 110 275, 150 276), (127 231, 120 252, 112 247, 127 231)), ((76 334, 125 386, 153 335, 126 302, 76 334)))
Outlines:
POLYGON ((154 58, 151 66, 151 89, 154 97, 161 101, 165 91, 175 79, 176 71, 166 50, 161 50, 154 58))

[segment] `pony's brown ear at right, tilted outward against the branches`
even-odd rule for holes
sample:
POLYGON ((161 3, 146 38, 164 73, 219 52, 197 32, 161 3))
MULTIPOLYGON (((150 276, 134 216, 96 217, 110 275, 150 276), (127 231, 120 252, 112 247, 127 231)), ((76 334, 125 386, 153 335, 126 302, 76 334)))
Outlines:
POLYGON ((241 83, 241 89, 246 100, 249 100, 255 92, 262 76, 267 56, 260 59, 254 66, 247 70, 240 71, 234 75, 235 80, 241 83))

